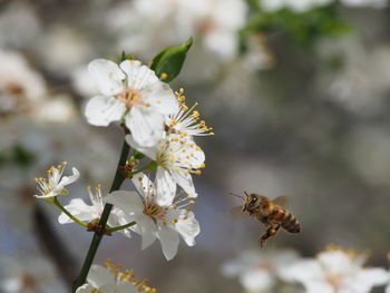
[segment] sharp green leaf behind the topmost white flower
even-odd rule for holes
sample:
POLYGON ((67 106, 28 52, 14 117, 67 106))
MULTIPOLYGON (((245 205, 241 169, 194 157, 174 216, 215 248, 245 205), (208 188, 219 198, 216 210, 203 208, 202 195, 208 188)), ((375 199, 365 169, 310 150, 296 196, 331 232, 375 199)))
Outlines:
POLYGON ((193 38, 178 46, 160 51, 150 62, 150 69, 165 82, 169 82, 181 72, 187 51, 193 45, 193 38))

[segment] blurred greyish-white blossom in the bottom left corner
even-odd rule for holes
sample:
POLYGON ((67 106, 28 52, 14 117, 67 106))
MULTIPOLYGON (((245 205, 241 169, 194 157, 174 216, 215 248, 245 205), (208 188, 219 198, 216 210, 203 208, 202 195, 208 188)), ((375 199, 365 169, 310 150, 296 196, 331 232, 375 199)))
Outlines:
POLYGON ((66 293, 53 265, 42 255, 13 257, 0 255, 0 292, 66 293))

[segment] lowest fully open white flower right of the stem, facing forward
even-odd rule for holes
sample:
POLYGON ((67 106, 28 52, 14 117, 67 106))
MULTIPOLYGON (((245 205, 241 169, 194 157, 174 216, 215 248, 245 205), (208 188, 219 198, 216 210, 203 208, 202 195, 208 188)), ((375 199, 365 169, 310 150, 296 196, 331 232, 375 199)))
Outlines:
POLYGON ((169 261, 176 253, 179 235, 187 245, 195 245, 195 236, 199 233, 199 224, 191 208, 186 205, 194 204, 186 198, 172 198, 167 201, 158 193, 162 182, 157 178, 156 185, 144 174, 137 174, 133 178, 142 198, 131 192, 114 192, 108 195, 107 202, 124 211, 126 221, 135 221, 137 225, 131 227, 143 237, 143 250, 159 238, 165 257, 169 261))

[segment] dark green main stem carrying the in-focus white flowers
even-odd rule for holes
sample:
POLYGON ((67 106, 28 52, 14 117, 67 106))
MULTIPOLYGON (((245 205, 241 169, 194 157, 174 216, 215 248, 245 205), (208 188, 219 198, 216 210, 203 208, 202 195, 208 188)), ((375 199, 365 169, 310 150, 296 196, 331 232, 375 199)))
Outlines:
MULTIPOLYGON (((127 129, 125 129, 125 135, 127 133, 128 133, 127 129)), ((126 164, 126 160, 127 160, 129 152, 130 152, 130 147, 127 145, 127 143, 125 140, 124 145, 121 147, 120 158, 119 158, 119 162, 118 162, 117 170, 115 173, 113 185, 111 185, 111 188, 109 191, 110 193, 115 192, 115 191, 118 191, 120 185, 121 185, 121 183, 125 179, 124 176, 121 175, 121 172, 120 172, 119 167, 124 166, 126 164)), ((106 204, 105 205, 105 208, 103 211, 103 214, 101 214, 101 217, 100 217, 100 221, 99 221, 99 224, 98 224, 98 228, 95 231, 94 238, 92 238, 92 241, 91 241, 91 243, 89 245, 89 250, 88 250, 88 253, 87 253, 86 258, 84 261, 80 274, 74 282, 74 285, 72 285, 72 292, 74 293, 76 292, 76 290, 79 286, 81 286, 81 285, 84 285, 86 283, 87 275, 89 273, 90 266, 92 265, 96 252, 97 252, 97 250, 99 247, 99 244, 101 242, 101 238, 104 236, 104 232, 106 229, 106 224, 107 224, 107 221, 108 221, 109 213, 111 212, 111 208, 113 208, 111 204, 106 204)), ((133 224, 133 223, 129 223, 129 224, 133 224)), ((118 228, 118 227, 116 227, 116 228, 118 228)))

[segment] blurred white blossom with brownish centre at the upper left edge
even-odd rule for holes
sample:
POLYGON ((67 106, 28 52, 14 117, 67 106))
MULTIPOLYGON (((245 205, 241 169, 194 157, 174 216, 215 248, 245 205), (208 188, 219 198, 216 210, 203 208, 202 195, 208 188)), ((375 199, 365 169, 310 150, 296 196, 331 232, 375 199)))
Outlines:
POLYGON ((0 114, 28 114, 46 101, 46 82, 22 55, 0 49, 0 114))

